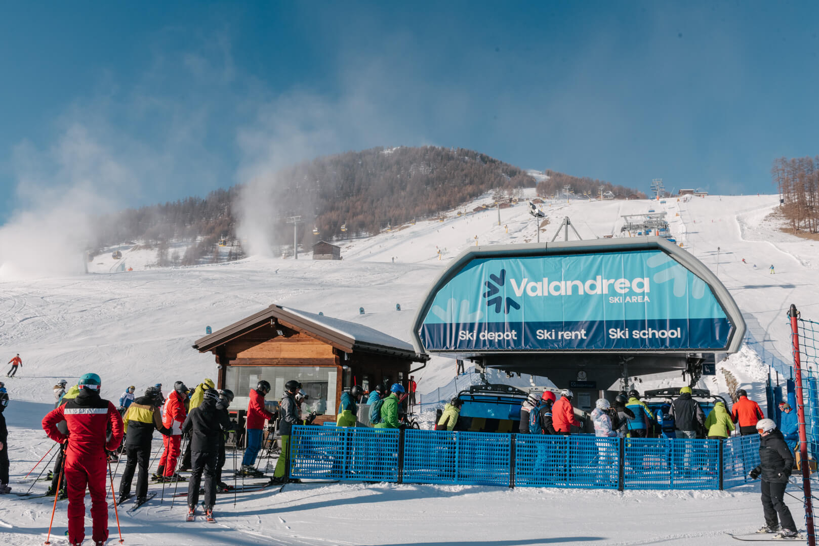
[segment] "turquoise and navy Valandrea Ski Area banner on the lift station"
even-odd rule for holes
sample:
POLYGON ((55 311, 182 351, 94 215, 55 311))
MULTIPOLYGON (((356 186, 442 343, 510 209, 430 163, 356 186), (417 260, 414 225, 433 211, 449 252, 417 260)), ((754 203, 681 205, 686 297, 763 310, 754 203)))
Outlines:
POLYGON ((423 348, 681 352, 730 345, 736 321, 724 300, 735 308, 731 296, 710 272, 707 283, 672 258, 670 244, 609 243, 622 250, 593 245, 563 254, 555 246, 551 254, 541 246, 539 255, 466 253, 419 313, 423 348), (715 283, 724 294, 715 294, 715 283))

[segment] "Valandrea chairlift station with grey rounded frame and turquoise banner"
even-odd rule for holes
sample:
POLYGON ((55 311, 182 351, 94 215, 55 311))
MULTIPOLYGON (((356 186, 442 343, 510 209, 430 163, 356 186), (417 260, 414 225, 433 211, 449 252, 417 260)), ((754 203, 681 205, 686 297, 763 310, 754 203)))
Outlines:
POLYGON ((412 331, 419 354, 548 377, 585 411, 621 378, 699 378, 744 332, 722 282, 662 237, 466 250, 432 284, 412 331))

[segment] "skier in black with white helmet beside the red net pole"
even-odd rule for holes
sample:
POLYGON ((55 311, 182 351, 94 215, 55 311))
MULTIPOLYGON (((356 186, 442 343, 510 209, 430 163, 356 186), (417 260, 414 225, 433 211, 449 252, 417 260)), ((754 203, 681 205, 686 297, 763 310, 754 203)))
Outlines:
POLYGON ((765 526, 757 532, 776 533, 779 530, 776 517, 779 516, 782 530, 776 535, 777 538, 792 539, 799 533, 796 532, 794 517, 790 515, 784 497, 790 471, 794 467, 794 456, 772 419, 757 422, 757 431, 760 465, 750 472, 750 476, 753 480, 762 476, 762 509, 765 512, 765 526))

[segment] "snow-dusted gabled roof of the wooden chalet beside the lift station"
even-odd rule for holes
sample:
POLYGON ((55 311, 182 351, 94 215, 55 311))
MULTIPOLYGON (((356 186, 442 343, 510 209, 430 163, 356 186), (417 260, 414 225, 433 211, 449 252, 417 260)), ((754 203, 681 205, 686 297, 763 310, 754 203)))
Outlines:
POLYGON ((264 327, 275 320, 285 327, 306 332, 348 353, 363 351, 365 353, 391 354, 414 362, 426 362, 428 354, 416 354, 414 347, 406 341, 384 332, 379 332, 363 324, 351 323, 340 318, 308 313, 300 309, 290 309, 282 305, 270 305, 256 314, 226 326, 209 336, 201 337, 192 346, 200 353, 213 350, 219 345, 237 339, 264 327))

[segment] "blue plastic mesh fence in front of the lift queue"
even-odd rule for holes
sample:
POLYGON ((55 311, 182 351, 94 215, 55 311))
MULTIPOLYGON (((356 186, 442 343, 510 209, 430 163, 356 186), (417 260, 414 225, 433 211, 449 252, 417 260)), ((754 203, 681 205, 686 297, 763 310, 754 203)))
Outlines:
POLYGON ((757 435, 721 442, 294 426, 290 445, 291 477, 318 480, 717 490, 746 483, 759 464, 757 435))

